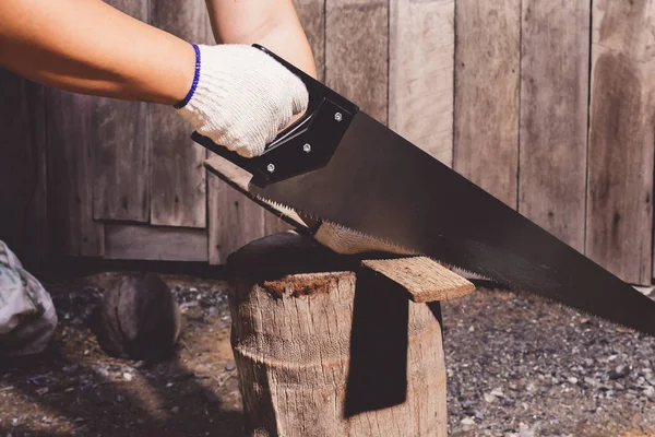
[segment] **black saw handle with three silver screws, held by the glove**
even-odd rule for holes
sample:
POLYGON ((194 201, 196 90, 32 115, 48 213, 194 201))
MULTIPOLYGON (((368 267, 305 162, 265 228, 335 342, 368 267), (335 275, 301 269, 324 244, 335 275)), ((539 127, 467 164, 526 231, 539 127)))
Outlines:
POLYGON ((335 91, 291 66, 266 48, 254 44, 296 74, 307 86, 309 104, 305 115, 266 145, 261 156, 247 158, 193 132, 196 143, 252 174, 259 186, 288 179, 327 164, 359 108, 335 91))

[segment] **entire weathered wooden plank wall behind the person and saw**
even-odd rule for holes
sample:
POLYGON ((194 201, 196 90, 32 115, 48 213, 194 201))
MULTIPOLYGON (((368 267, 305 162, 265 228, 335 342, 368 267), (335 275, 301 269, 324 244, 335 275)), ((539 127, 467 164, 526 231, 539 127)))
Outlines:
MULTIPOLYGON (((202 0, 109 2, 212 42, 202 0)), ((327 85, 624 280, 652 282, 655 0, 296 5, 327 85)), ((0 238, 20 253, 216 264, 285 227, 205 175, 170 108, 8 72, 0 97, 0 238)))

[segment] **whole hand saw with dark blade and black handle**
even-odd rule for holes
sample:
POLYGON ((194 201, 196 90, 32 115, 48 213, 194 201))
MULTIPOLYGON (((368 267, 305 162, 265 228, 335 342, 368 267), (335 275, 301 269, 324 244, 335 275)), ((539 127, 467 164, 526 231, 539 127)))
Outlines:
POLYGON ((252 158, 192 134, 252 175, 250 197, 655 335, 650 298, 335 91, 255 47, 307 85, 307 113, 252 158))

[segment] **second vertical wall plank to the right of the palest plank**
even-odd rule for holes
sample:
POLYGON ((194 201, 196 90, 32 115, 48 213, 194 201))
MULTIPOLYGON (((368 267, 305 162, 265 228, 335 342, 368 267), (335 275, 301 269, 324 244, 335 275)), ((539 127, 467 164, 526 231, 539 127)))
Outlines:
POLYGON ((523 0, 519 210, 584 247, 590 0, 523 0))

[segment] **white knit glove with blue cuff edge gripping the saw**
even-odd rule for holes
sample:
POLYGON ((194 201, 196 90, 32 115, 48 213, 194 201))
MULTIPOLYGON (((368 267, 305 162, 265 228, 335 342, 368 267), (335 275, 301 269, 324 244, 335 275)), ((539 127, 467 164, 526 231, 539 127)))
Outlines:
POLYGON ((294 115, 307 109, 302 81, 263 51, 236 44, 198 48, 195 90, 176 108, 216 144, 259 156, 294 115))

